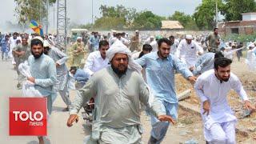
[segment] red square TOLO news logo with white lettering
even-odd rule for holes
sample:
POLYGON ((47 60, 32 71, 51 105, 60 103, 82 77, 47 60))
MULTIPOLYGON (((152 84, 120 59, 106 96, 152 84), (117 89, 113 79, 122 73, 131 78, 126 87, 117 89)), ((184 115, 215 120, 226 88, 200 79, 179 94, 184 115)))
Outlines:
POLYGON ((10 135, 47 134, 46 98, 10 98, 10 135))

